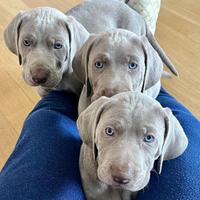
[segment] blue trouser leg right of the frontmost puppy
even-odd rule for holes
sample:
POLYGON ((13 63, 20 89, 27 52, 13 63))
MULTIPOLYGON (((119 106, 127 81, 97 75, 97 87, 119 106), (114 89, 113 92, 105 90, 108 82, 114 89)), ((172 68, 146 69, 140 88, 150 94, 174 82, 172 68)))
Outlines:
POLYGON ((164 89, 157 100, 169 107, 181 123, 189 140, 178 158, 165 161, 161 175, 152 173, 138 200, 200 200, 200 122, 164 89))

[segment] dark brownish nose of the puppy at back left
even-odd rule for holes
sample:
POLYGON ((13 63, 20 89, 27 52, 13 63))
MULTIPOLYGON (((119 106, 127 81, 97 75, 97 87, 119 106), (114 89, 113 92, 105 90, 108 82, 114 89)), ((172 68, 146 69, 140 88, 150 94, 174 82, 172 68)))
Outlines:
POLYGON ((50 71, 44 68, 37 68, 31 71, 32 80, 37 84, 43 84, 47 81, 50 71))

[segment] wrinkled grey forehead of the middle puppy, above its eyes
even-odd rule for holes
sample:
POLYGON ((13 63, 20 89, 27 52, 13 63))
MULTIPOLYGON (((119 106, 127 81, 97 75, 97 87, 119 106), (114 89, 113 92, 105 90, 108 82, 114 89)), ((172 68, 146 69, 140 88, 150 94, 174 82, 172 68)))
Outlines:
POLYGON ((103 34, 94 41, 91 54, 101 55, 128 55, 137 54, 143 55, 142 42, 139 37, 133 33, 106 33, 103 34))

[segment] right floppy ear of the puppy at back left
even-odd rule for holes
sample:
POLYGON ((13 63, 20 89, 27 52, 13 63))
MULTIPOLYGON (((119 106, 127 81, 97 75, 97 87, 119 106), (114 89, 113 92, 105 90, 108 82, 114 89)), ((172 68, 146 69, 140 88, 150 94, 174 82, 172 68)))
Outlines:
POLYGON ((72 63, 76 51, 79 50, 88 39, 89 32, 72 16, 66 16, 65 23, 69 34, 69 56, 70 63, 72 63))

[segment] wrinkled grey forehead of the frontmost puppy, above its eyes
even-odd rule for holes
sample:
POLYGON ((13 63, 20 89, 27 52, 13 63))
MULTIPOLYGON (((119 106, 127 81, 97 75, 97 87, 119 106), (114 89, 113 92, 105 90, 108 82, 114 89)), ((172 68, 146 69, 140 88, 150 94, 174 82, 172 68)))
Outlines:
POLYGON ((120 98, 115 95, 102 115, 107 122, 121 123, 130 128, 163 127, 164 123, 161 106, 156 100, 146 98, 146 95, 122 94, 120 98))

